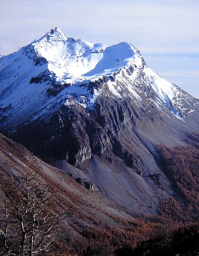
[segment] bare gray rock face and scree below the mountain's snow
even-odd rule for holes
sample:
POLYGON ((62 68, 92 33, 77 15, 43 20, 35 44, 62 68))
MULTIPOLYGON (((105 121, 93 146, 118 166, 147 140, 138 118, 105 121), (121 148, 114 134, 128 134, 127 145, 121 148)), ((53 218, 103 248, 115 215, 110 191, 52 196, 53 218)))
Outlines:
POLYGON ((70 170, 84 187, 87 180, 126 209, 155 214, 159 199, 173 193, 156 161, 156 144, 185 143, 196 123, 197 113, 184 122, 153 105, 143 109, 128 97, 103 96, 89 112, 62 105, 48 121, 37 119, 12 136, 46 162, 70 170))

